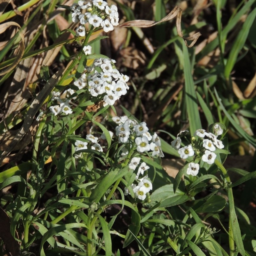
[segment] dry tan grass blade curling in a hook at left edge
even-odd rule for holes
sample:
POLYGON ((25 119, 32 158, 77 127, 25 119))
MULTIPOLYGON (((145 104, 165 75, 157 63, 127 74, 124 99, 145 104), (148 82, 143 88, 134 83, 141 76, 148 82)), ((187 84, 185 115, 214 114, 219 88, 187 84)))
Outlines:
MULTIPOLYGON (((4 33, 4 31, 5 31, 7 28, 11 27, 11 26, 16 26, 16 27, 20 28, 20 25, 19 25, 18 23, 16 23, 16 22, 13 22, 13 21, 5 22, 4 24, 0 24, 0 34, 4 33)), ((19 46, 20 48, 19 48, 17 57, 16 57, 16 59, 13 61, 13 63, 12 63, 11 66, 9 66, 8 68, 6 68, 4 71, 0 72, 0 76, 7 74, 7 73, 10 72, 13 68, 15 68, 15 67, 19 64, 19 62, 20 62, 20 60, 21 60, 21 58, 22 58, 22 56, 23 56, 23 54, 24 54, 24 50, 25 50, 24 32, 23 32, 23 30, 20 29, 18 33, 19 33, 19 35, 20 35, 21 43, 20 43, 20 46, 19 46)))

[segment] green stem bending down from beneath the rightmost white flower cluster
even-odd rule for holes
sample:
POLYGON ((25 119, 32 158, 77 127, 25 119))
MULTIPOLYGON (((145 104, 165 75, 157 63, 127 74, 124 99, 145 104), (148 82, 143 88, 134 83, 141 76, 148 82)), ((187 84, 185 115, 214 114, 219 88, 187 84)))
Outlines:
MULTIPOLYGON (((226 168, 216 159, 215 159, 214 163, 219 167, 219 169, 223 173, 225 179, 230 184, 231 180, 228 176, 228 172, 227 172, 226 168)), ((232 229, 233 223, 231 223, 232 222, 231 212, 235 211, 235 209, 233 209, 233 207, 232 207, 233 202, 234 202, 234 196, 233 196, 232 188, 230 186, 228 186, 226 191, 228 192, 228 201, 229 201, 229 203, 228 203, 228 205, 229 205, 229 228, 228 228, 229 250, 230 250, 230 256, 233 256, 235 254, 235 241, 234 241, 234 233, 233 233, 233 229, 232 229)))

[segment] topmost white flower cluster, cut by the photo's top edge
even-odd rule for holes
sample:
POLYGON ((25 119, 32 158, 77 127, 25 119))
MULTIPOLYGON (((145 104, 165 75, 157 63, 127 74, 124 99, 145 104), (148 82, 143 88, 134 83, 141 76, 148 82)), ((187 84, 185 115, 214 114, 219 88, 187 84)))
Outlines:
POLYGON ((80 22, 76 29, 76 36, 85 36, 84 24, 87 22, 94 28, 102 27, 105 32, 118 26, 118 12, 116 5, 108 6, 107 2, 101 0, 82 0, 70 6, 72 21, 80 22))

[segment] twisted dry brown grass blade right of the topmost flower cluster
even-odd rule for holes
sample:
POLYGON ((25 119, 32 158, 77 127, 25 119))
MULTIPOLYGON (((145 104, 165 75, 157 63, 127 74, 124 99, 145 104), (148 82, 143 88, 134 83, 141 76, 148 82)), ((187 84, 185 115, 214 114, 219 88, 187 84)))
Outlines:
POLYGON ((166 15, 162 20, 159 20, 159 21, 130 20, 130 21, 124 22, 123 24, 120 24, 119 27, 149 28, 149 27, 155 26, 156 24, 159 24, 161 22, 172 20, 173 18, 175 18, 177 16, 176 28, 178 31, 178 35, 184 39, 184 41, 188 47, 192 47, 196 43, 196 41, 197 41, 198 37, 201 35, 201 33, 197 32, 193 36, 184 37, 182 30, 181 30, 181 14, 182 14, 181 8, 178 6, 175 6, 174 9, 168 15, 166 15), (187 40, 192 41, 192 43, 188 45, 187 40))

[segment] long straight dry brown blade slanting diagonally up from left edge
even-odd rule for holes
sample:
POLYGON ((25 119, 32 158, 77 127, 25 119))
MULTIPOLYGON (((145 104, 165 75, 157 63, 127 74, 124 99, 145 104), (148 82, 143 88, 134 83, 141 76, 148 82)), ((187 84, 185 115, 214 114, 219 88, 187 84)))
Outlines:
POLYGON ((33 119, 40 109, 41 105, 43 104, 44 100, 47 98, 47 96, 52 91, 53 87, 58 84, 58 81, 62 77, 62 75, 65 73, 65 71, 68 69, 69 65, 64 70, 57 71, 56 74, 54 74, 49 81, 44 85, 44 88, 41 90, 41 92, 36 96, 36 98, 33 100, 33 102, 30 104, 30 108, 28 109, 28 113, 25 116, 24 122, 15 136, 15 138, 10 143, 9 147, 3 152, 2 156, 0 157, 0 163, 3 162, 4 158, 8 156, 12 150, 15 148, 15 146, 20 142, 20 140, 25 136, 25 134, 29 131, 30 126, 33 122, 33 119))

